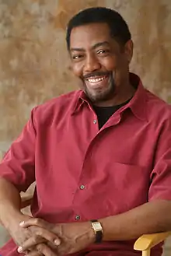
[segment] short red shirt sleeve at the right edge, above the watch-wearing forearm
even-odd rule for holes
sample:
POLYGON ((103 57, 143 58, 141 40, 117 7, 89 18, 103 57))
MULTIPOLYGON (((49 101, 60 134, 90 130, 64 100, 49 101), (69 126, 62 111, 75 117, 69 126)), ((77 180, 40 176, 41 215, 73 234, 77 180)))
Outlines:
POLYGON ((171 118, 162 125, 155 149, 148 201, 171 200, 171 118))

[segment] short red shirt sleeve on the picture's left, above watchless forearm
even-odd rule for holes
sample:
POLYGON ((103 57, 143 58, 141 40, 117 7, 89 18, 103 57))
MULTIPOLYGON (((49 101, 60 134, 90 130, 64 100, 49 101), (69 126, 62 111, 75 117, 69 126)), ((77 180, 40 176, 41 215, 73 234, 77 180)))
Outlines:
POLYGON ((0 163, 0 177, 14 184, 19 191, 26 191, 35 181, 35 110, 36 108, 32 110, 30 120, 23 128, 23 132, 12 143, 0 163))

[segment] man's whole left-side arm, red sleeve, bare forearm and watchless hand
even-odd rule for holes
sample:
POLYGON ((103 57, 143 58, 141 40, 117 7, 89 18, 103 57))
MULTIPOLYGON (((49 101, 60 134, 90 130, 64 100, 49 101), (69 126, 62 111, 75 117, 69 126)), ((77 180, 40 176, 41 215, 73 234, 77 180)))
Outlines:
MULTIPOLYGON (((43 244, 46 240, 51 240, 51 243, 58 240, 55 234, 47 230, 37 230, 37 227, 24 230, 19 226, 19 223, 33 219, 20 212, 22 202, 19 194, 20 191, 26 191, 35 181, 34 155, 37 134, 33 111, 22 134, 12 143, 9 152, 0 163, 0 220, 17 245, 23 244, 30 237, 35 237, 38 244, 43 244), (41 238, 42 233, 44 239, 41 238)), ((55 256, 49 247, 43 245, 48 254, 55 256)), ((37 256, 36 248, 32 247, 31 251, 32 256, 37 256)))

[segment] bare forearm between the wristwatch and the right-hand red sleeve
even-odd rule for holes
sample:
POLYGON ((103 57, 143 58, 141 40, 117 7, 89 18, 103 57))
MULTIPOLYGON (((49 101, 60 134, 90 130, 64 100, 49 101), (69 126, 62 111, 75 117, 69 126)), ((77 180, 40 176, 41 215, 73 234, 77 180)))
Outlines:
POLYGON ((171 230, 171 202, 148 202, 117 216, 99 219, 103 240, 131 240, 145 233, 171 230))

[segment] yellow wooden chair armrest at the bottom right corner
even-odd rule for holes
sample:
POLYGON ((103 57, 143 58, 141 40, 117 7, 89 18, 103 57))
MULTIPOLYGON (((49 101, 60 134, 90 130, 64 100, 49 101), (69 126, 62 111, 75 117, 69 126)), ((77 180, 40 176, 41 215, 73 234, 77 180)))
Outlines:
POLYGON ((163 233, 151 233, 146 234, 138 238, 134 243, 134 250, 137 251, 147 251, 150 250, 155 245, 161 243, 167 237, 171 236, 171 232, 163 233))

